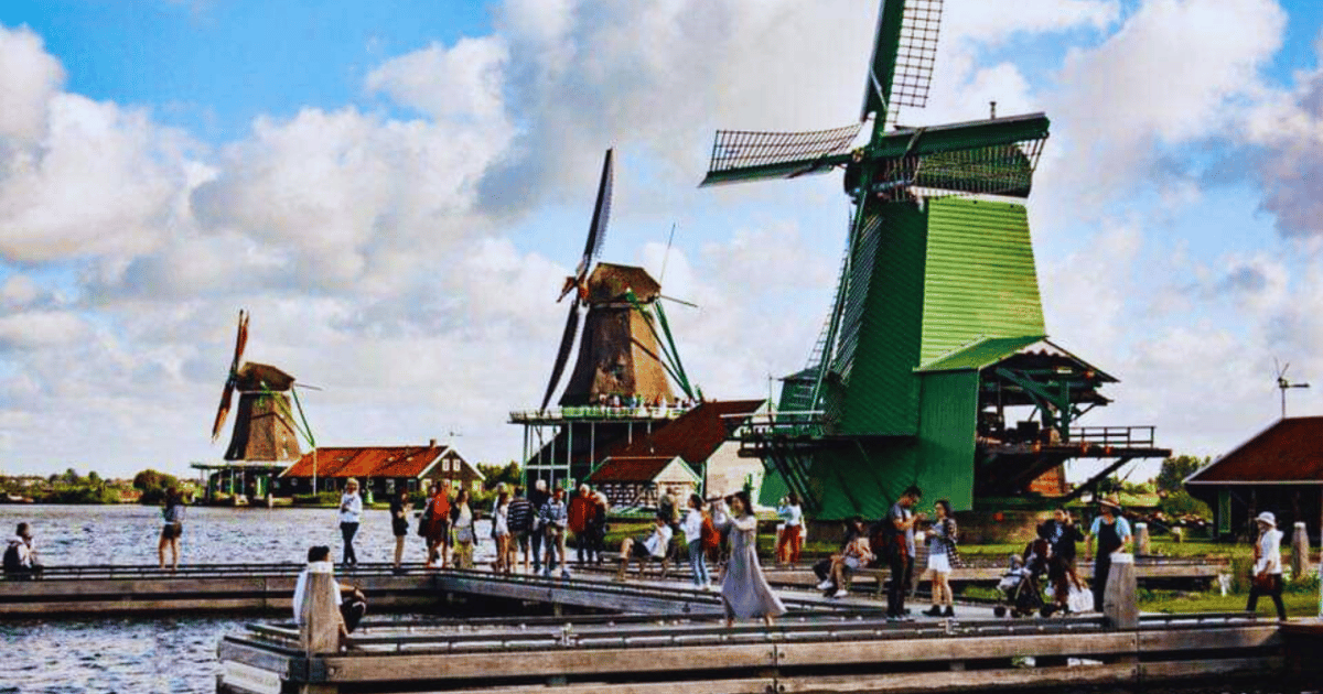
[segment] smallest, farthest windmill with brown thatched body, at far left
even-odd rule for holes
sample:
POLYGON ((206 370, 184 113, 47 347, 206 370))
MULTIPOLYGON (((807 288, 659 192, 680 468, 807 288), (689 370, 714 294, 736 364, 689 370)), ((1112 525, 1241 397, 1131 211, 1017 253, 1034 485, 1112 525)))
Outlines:
POLYGON ((239 311, 234 358, 221 391, 221 405, 216 410, 212 440, 220 438, 234 391, 238 390, 234 434, 225 449, 225 460, 298 460, 302 456, 298 427, 287 395, 294 387, 294 377, 275 366, 242 361, 243 348, 247 345, 247 312, 239 311))

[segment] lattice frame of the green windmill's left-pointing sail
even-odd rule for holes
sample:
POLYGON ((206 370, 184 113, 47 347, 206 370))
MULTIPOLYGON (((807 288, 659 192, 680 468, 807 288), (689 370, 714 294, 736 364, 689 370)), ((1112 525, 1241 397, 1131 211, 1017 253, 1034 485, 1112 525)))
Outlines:
MULTIPOLYGON (((863 126, 855 123, 841 128, 806 132, 718 130, 712 143, 708 173, 795 164, 803 168, 799 173, 818 173, 819 169, 807 163, 848 151, 863 126)), ((822 172, 830 169, 831 167, 820 168, 822 172)), ((783 177, 785 173, 777 172, 773 176, 783 177)))

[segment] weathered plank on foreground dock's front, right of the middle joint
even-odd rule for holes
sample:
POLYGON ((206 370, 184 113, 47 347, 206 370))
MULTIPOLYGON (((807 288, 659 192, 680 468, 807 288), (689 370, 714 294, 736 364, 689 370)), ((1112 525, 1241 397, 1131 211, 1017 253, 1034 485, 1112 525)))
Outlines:
POLYGON ((1015 656, 1103 656, 1135 653, 1134 633, 987 636, 957 638, 888 638, 840 642, 778 644, 781 665, 843 665, 1009 658, 1015 656))

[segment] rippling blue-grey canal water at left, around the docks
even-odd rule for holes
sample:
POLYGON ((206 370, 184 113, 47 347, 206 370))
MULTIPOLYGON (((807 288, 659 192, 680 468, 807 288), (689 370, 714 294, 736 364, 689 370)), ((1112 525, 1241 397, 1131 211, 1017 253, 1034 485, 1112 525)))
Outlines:
MULTIPOLYGON (((160 509, 138 505, 0 505, 0 533, 8 538, 19 522, 29 523, 48 566, 155 566, 160 518, 160 509)), ((421 562, 422 538, 406 542, 405 560, 421 562)), ((328 545, 340 558, 335 509, 189 508, 180 563, 303 563, 312 545, 328 545)), ((393 559, 388 512, 364 513, 355 549, 360 562, 393 559)), ((475 557, 490 560, 491 541, 475 557)), ((0 619, 0 694, 210 694, 217 640, 253 619, 0 619)))

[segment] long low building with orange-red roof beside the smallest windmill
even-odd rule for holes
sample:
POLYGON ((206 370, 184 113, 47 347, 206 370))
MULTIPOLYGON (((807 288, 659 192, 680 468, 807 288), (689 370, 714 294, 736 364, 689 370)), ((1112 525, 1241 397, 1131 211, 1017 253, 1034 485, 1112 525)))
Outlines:
POLYGON ((316 476, 319 492, 339 492, 351 477, 363 493, 386 500, 398 489, 426 490, 441 480, 452 489, 482 489, 483 473, 450 445, 433 439, 426 445, 321 447, 304 453, 275 482, 278 496, 312 493, 316 476))

